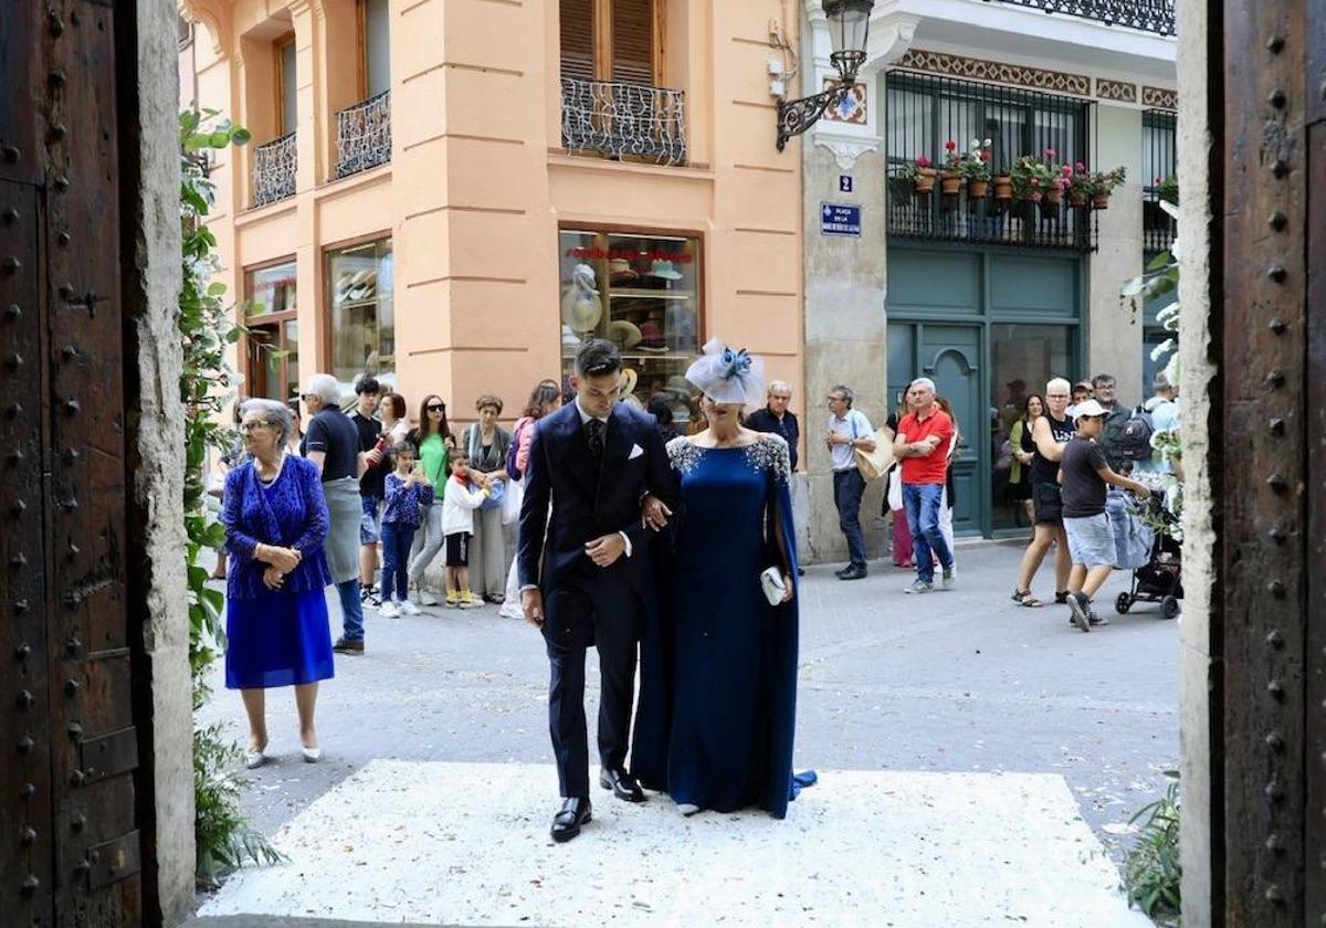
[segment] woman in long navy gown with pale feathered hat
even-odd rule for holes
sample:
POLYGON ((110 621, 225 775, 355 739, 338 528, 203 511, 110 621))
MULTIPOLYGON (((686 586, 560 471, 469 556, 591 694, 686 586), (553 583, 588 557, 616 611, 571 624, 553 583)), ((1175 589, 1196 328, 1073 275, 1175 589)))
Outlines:
POLYGON ((682 510, 660 628, 642 642, 633 773, 684 814, 760 806, 786 815, 796 728, 797 554, 788 444, 744 428, 761 365, 713 341, 687 379, 709 427, 668 443, 682 510), (770 606, 760 574, 777 567, 770 606))

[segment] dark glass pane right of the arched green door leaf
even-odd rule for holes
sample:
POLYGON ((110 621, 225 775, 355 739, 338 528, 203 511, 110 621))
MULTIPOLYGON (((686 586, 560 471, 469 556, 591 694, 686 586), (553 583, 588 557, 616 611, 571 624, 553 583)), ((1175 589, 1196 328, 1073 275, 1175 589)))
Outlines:
MULTIPOLYGON (((1028 526, 1021 498, 1026 491, 1024 476, 1021 488, 1010 484, 1013 471, 1009 434, 1022 416, 1026 398, 1045 395, 1045 384, 1052 377, 1074 379, 1073 343, 1075 326, 993 323, 989 327, 992 377, 991 435, 994 461, 993 528, 1014 529, 1028 526)), ((1021 468, 1025 475, 1026 468, 1021 468)))

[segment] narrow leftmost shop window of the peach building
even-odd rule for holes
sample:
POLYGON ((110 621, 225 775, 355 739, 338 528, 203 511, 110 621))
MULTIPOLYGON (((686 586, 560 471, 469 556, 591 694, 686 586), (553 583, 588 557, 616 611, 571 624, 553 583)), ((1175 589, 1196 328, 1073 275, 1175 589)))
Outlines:
POLYGON ((285 261, 244 274, 245 351, 249 396, 289 399, 298 392, 296 264, 285 261))

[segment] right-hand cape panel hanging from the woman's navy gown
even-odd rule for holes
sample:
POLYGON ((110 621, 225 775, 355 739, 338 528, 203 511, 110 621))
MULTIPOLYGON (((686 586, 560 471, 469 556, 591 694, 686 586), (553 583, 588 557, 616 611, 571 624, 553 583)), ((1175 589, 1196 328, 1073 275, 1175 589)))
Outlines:
POLYGON ((788 801, 793 798, 792 746, 797 728, 797 639, 798 602, 801 599, 797 579, 797 537, 792 522, 792 460, 788 443, 778 435, 761 439, 766 444, 762 455, 765 464, 765 544, 769 563, 780 565, 792 579, 796 595, 790 602, 773 607, 774 636, 772 648, 773 692, 769 709, 772 713, 770 776, 769 794, 761 803, 776 818, 788 813, 788 801))

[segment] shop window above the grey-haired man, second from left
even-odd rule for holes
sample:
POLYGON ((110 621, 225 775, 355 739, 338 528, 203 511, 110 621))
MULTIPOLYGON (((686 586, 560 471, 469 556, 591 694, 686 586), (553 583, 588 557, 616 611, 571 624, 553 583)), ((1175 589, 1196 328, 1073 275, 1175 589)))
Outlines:
POLYGON ((395 386, 391 239, 326 253, 332 308, 332 375, 349 395, 370 374, 395 386))

